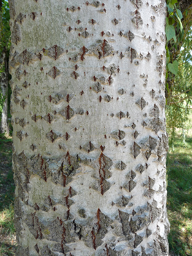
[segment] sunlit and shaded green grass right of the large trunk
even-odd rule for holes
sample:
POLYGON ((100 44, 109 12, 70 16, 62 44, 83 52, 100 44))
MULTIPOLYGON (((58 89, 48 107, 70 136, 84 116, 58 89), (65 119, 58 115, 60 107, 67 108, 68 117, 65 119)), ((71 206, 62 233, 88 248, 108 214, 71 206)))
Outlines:
POLYGON ((175 256, 192 255, 192 137, 183 145, 177 135, 167 157, 167 173, 169 250, 175 256))

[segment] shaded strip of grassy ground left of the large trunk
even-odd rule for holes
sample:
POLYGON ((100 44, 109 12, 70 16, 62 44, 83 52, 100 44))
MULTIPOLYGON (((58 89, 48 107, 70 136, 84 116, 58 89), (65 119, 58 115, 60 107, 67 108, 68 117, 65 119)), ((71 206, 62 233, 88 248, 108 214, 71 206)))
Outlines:
POLYGON ((12 140, 0 137, 0 255, 15 255, 12 140))

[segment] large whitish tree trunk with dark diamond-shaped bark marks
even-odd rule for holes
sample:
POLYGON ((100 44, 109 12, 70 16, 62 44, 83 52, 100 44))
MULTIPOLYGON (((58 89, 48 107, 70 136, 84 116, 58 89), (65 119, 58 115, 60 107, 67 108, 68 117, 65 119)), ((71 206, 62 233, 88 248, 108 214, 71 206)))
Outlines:
POLYGON ((17 255, 168 255, 165 2, 9 4, 17 255))

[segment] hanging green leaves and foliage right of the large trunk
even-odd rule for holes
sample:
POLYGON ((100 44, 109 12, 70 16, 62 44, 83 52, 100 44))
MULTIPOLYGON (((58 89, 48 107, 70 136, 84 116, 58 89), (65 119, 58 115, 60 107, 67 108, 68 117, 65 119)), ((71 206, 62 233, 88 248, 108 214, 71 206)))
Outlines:
POLYGON ((178 8, 177 0, 167 0, 166 124, 172 146, 176 129, 183 129, 185 143, 185 129, 190 126, 188 115, 192 105, 192 32, 186 31, 187 12, 182 14, 178 8))

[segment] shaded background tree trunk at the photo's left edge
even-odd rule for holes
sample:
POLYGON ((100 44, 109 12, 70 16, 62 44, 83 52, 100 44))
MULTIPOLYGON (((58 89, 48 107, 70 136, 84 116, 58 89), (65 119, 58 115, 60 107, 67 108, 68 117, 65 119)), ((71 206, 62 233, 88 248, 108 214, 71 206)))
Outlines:
POLYGON ((1 64, 4 66, 4 72, 1 72, 0 75, 0 86, 1 86, 1 94, 5 97, 4 104, 2 106, 2 113, 1 113, 1 127, 0 132, 6 132, 9 134, 9 127, 8 127, 8 116, 7 116, 7 95, 8 95, 8 83, 9 83, 9 72, 8 72, 8 65, 7 65, 7 56, 6 53, 2 53, 1 56, 1 64))

